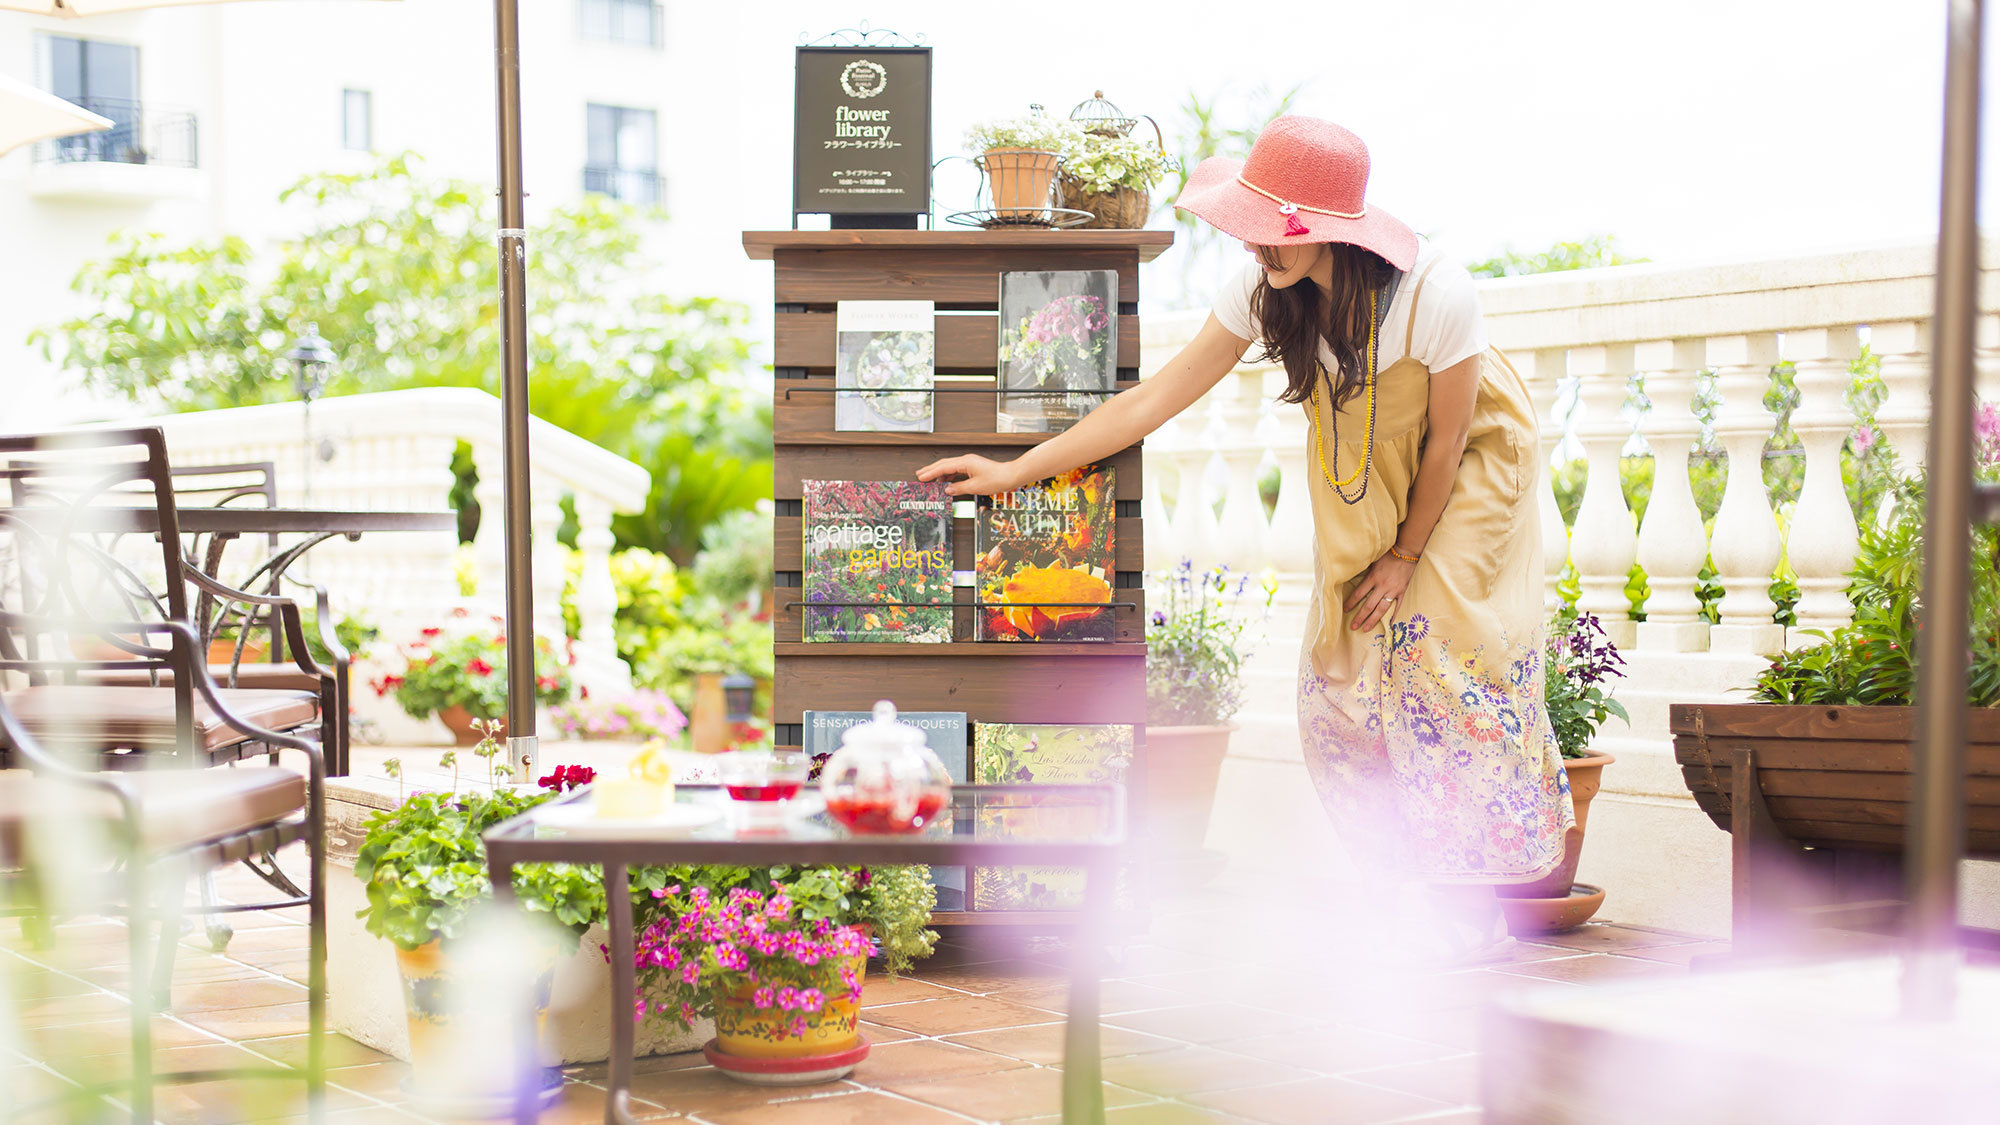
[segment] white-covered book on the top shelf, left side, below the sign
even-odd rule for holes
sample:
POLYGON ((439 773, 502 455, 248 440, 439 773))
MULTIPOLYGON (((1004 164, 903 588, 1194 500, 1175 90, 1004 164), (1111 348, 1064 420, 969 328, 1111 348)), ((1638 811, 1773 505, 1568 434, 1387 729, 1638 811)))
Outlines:
POLYGON ((834 428, 928 434, 936 416, 936 306, 842 300, 834 308, 834 428))

